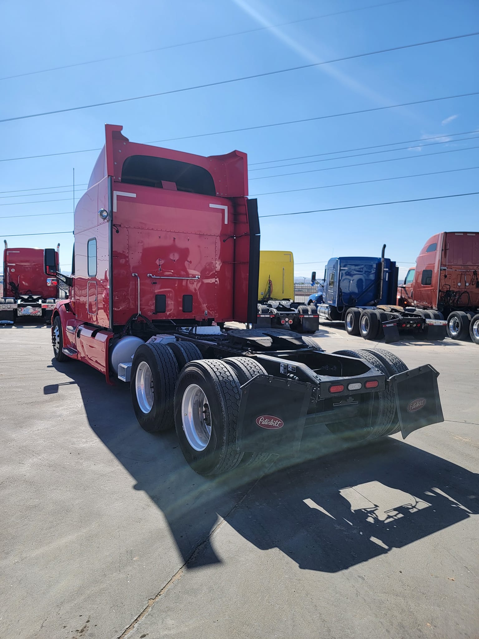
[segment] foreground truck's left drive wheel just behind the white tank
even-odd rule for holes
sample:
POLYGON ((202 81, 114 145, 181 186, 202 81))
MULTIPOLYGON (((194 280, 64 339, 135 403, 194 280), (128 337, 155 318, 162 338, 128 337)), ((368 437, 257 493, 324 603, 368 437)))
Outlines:
POLYGON ((138 423, 147 433, 174 426, 173 397, 178 364, 165 344, 141 344, 132 363, 130 390, 138 423))

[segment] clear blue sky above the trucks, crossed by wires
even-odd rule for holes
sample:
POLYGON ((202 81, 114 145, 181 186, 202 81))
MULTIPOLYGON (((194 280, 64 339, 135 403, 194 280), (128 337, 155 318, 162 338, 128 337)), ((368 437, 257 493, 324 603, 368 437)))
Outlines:
MULTIPOLYGON (((476 0, 404 0, 372 7, 385 1, 3 3, 0 77, 79 66, 1 80, 0 118, 158 93, 479 31, 476 0), (319 17, 352 9, 356 11, 319 17), (294 20, 303 21, 264 29, 294 20), (239 31, 252 33, 188 44, 239 31), (181 44, 185 45, 145 52, 181 44), (111 56, 125 57, 79 64, 111 56)), ((402 151, 250 171, 250 178, 262 178, 250 180, 252 196, 475 167, 479 166, 477 148, 442 153, 436 158, 425 155, 479 146, 475 139, 448 139, 450 134, 479 130, 479 96, 231 134, 176 138, 479 91, 478 53, 479 37, 475 36, 224 86, 0 123, 0 159, 99 148, 107 122, 123 125, 126 137, 135 142, 175 138, 163 146, 200 155, 238 149, 248 153, 250 163, 424 140, 399 144, 399 148, 409 147, 402 151), (437 135, 444 137, 435 141, 445 143, 425 150, 427 137, 437 135), (332 168, 400 157, 407 159, 332 168), (266 178, 317 168, 332 170, 266 178)), ((53 232, 10 237, 8 243, 47 247, 60 242, 61 263, 68 272, 73 237, 56 233, 72 229, 71 213, 20 216, 71 212, 72 169, 75 167, 76 183, 86 183, 97 155, 97 151, 91 151, 0 162, 0 191, 38 189, 13 194, 19 197, 0 194, 0 240, 15 233, 53 232), (63 188, 50 188, 59 186, 63 188), (40 196, 42 192, 45 195, 40 196), (46 202, 53 199, 57 201, 46 202), (10 205, 13 203, 21 204, 10 205)), ((268 215, 471 192, 479 190, 478 178, 475 169, 261 195, 259 212, 268 215)), ((387 255, 402 263, 402 275, 433 233, 479 231, 478 203, 479 196, 469 196, 267 218, 261 224, 262 249, 293 250, 296 274, 307 275, 313 268, 321 272, 324 262, 333 255, 377 256, 386 243, 387 255)))

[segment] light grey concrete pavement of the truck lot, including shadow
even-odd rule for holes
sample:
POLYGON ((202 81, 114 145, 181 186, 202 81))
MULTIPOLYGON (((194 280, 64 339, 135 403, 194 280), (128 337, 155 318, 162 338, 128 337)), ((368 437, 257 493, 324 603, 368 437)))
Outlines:
POLYGON ((45 327, 0 327, 0 636, 479 636, 479 350, 387 348, 441 373, 443 424, 207 480, 128 387, 52 362, 45 327))

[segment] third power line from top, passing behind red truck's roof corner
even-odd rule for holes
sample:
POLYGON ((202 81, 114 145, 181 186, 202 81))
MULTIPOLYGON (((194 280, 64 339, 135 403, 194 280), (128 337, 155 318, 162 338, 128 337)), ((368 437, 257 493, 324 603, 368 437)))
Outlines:
MULTIPOLYGON (((194 137, 208 137, 209 135, 222 135, 225 133, 238 133, 241 131, 252 131, 259 128, 282 127, 284 125, 289 125, 289 124, 299 124, 303 122, 312 122, 316 120, 329 119, 329 118, 342 118, 343 116, 352 116, 352 115, 358 115, 361 113, 370 113, 373 111, 384 111, 386 109, 397 109, 399 107, 410 107, 416 104, 426 104, 428 102, 439 102, 441 100, 453 100, 455 98, 466 98, 473 95, 479 95, 479 91, 475 91, 473 93, 460 93, 459 95, 446 95, 442 98, 429 98, 428 100, 415 100, 414 102, 403 102, 402 104, 392 104, 388 107, 374 107, 373 109, 362 109, 361 111, 347 111, 344 113, 332 113, 326 116, 316 116, 315 118, 303 118, 298 120, 289 120, 285 122, 274 122, 272 124, 262 124, 262 125, 257 125, 255 127, 232 128, 225 131, 213 131, 211 133, 184 135, 183 137, 167 137, 163 140, 153 140, 149 142, 143 142, 143 144, 159 144, 160 142, 171 142, 174 140, 187 140, 187 139, 192 139, 194 137)), ((455 135, 463 135, 463 134, 458 133, 455 135)), ((396 144, 402 144, 402 142, 396 142, 396 144)), ((352 149, 352 150, 356 151, 358 149, 352 149)), ((70 155, 70 153, 89 153, 89 151, 101 151, 101 148, 83 149, 80 151, 62 151, 61 153, 44 153, 43 155, 26 155, 24 157, 17 157, 17 158, 3 158, 3 159, 0 159, 0 162, 14 162, 15 160, 34 160, 35 158, 54 157, 56 155, 70 155)), ((333 153, 342 153, 342 152, 343 151, 333 151, 333 153)), ((271 167, 271 168, 274 168, 274 167, 271 167)))

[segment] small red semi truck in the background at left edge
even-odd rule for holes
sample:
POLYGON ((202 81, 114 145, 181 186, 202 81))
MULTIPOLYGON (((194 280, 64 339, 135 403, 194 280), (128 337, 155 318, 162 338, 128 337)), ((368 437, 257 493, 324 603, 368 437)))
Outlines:
MULTIPOLYGON (((4 240, 3 297, 0 298, 0 321, 14 323, 19 317, 42 318, 50 322, 58 299, 56 275, 43 273, 43 249, 9 249, 4 240)), ((54 251, 59 270, 59 247, 54 251)))

